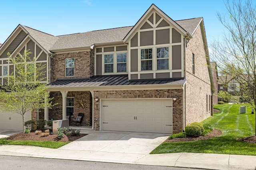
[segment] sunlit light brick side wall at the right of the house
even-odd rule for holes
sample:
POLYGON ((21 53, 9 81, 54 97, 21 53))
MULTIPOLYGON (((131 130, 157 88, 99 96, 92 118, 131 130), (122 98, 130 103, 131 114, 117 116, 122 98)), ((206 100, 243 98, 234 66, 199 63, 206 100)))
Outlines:
POLYGON ((201 29, 201 26, 196 29, 186 48, 186 125, 195 121, 203 121, 211 115, 212 110, 212 100, 209 101, 209 96, 212 95, 210 76, 201 29), (192 54, 195 56, 194 74, 192 72, 192 54))

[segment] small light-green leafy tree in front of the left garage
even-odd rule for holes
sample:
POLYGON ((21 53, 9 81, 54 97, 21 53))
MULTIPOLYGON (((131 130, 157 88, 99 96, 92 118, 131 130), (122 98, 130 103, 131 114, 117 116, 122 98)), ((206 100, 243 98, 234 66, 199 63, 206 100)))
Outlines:
POLYGON ((0 109, 22 115, 23 131, 24 115, 27 111, 51 108, 52 98, 46 92, 47 85, 44 76, 46 65, 36 64, 36 57, 30 57, 31 52, 24 51, 23 55, 11 56, 8 53, 10 64, 14 65, 14 72, 6 78, 8 84, 1 87, 0 109))

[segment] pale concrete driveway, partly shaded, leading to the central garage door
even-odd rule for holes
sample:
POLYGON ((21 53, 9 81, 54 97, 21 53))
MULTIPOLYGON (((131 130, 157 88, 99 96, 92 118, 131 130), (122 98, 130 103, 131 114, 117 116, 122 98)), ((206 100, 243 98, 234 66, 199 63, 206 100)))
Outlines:
POLYGON ((59 149, 149 154, 170 136, 160 133, 119 131, 81 130, 80 133, 86 133, 88 135, 64 145, 59 149))

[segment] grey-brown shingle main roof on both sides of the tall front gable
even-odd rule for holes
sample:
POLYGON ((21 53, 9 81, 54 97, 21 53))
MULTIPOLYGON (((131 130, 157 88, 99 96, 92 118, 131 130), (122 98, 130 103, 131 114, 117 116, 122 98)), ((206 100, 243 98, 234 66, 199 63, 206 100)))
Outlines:
MULTIPOLYGON (((175 22, 192 35, 201 20, 202 17, 188 20, 178 20, 175 22)), ((21 26, 26 29, 26 31, 28 31, 28 33, 48 53, 52 53, 51 51, 53 50, 90 47, 91 45, 97 43, 121 42, 133 27, 119 27, 97 31, 88 31, 85 33, 54 36, 24 25, 21 26)))

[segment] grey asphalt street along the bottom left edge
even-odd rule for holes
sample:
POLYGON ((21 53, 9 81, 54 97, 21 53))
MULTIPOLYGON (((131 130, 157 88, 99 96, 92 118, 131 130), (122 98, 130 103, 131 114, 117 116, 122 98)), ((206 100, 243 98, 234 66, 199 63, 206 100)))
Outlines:
MULTIPOLYGON (((78 160, 61 160, 48 158, 32 158, 19 156, 0 156, 1 170, 188 170, 188 168, 177 168, 167 166, 148 166, 136 164, 117 164, 108 162, 91 162, 78 160)), ((193 168, 193 170, 196 170, 193 168)), ((202 169, 201 169, 202 170, 202 169)))

